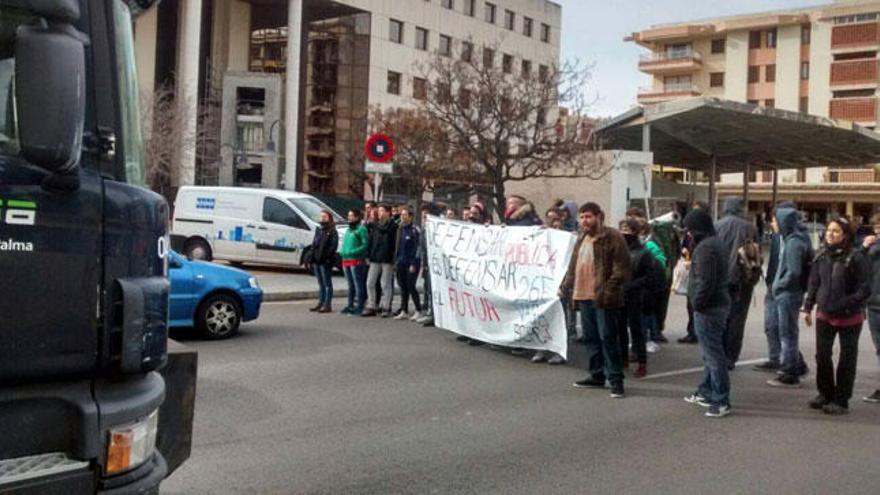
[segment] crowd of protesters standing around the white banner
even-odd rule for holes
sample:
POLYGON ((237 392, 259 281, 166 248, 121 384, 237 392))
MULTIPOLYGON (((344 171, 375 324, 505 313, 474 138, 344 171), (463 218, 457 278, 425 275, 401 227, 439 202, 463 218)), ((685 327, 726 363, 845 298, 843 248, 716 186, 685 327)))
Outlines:
MULTIPOLYGON (((408 205, 367 202, 363 211, 348 211, 348 230, 339 253, 348 283, 342 314, 408 318, 433 325, 431 275, 419 227, 428 215, 481 225, 493 222, 491 211, 479 201, 460 213, 442 205, 423 205, 418 221, 408 205), (417 283, 420 278, 423 294, 417 283), (395 279, 396 308, 392 306, 395 279)), ((713 418, 732 410, 730 372, 739 360, 754 289, 762 279, 767 287, 768 359, 753 369, 773 373, 769 386, 801 387, 809 366, 799 347, 800 323, 815 324, 818 395, 808 406, 829 415, 848 411, 859 335, 866 320, 880 363, 880 214, 871 221, 874 235, 857 243, 850 220, 835 216, 814 251, 797 205, 781 202, 769 215, 772 234, 765 270, 761 247, 765 224, 747 220, 745 205, 736 198, 725 201, 717 221, 705 203, 695 202, 683 219, 665 215, 649 220, 644 210, 632 208, 613 228, 606 225, 598 204, 578 207, 562 200, 542 219, 534 204, 521 196, 509 197, 501 215, 503 225, 543 226, 576 235, 559 288, 569 339, 583 343, 587 353, 587 376, 575 387, 609 386, 611 397, 624 397, 630 364, 635 365, 634 378, 645 377, 649 354, 668 342, 664 330, 670 295, 679 293, 686 295, 688 324, 678 342, 698 344, 704 363, 702 380, 685 401, 705 408, 705 415, 713 418), (677 273, 686 276, 686 283, 674 287, 677 273), (581 332, 577 332, 578 318, 581 332), (836 370, 835 340, 840 342, 836 370)), ((339 238, 329 211, 321 213, 320 224, 310 256, 320 288, 312 311, 329 313, 339 238)), ((469 337, 457 338, 485 345, 469 337)), ((531 361, 562 364, 565 359, 537 351, 531 361)), ((880 403, 880 389, 863 399, 880 403)))

